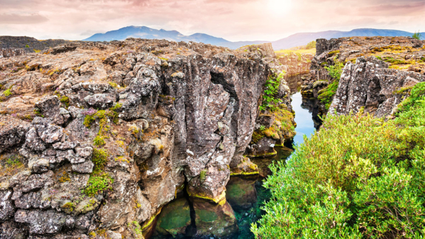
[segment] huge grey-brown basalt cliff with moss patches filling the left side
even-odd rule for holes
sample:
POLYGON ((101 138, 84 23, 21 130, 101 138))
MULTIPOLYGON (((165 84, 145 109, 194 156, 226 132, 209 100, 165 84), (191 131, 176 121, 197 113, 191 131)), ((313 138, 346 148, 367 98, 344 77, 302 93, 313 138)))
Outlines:
POLYGON ((143 238, 182 190, 195 213, 204 202, 226 218, 221 230, 194 216, 199 235, 235 233, 224 195, 270 74, 261 55, 128 39, 1 58, 0 70, 6 238, 143 238))

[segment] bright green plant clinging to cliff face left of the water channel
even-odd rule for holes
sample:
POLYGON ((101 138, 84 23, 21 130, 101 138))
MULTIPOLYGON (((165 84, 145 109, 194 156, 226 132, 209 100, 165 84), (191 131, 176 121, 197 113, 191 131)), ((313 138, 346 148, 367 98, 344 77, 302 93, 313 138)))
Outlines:
POLYGON ((276 98, 276 95, 279 91, 280 82, 283 77, 285 77, 285 74, 286 72, 282 72, 277 77, 275 75, 268 77, 267 82, 265 82, 263 104, 260 105, 260 111, 265 111, 267 109, 275 111, 277 109, 277 104, 282 102, 281 99, 276 98))

